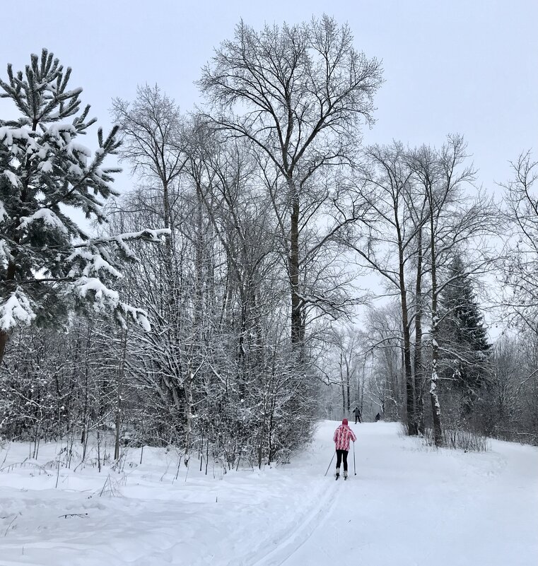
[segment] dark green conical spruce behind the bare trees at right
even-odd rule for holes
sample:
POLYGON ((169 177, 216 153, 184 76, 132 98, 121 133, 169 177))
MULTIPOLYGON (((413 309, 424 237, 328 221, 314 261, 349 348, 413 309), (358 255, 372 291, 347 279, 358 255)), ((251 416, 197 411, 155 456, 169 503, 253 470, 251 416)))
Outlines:
POLYGON ((491 344, 460 255, 450 264, 440 296, 440 346, 445 376, 455 379, 468 413, 487 379, 491 344))

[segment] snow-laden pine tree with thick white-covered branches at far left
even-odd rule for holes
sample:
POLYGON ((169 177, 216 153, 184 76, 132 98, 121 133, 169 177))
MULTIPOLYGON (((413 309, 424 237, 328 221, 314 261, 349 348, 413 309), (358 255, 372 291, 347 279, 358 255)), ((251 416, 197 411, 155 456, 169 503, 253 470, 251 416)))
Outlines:
POLYGON ((90 238, 69 208, 106 221, 103 204, 118 169, 105 158, 119 146, 118 126, 98 130, 95 153, 78 142, 95 119, 81 110, 81 88, 69 90, 71 69, 47 49, 33 54, 24 71, 0 79, 0 96, 21 116, 0 119, 0 363, 10 331, 18 324, 59 326, 72 309, 115 314, 148 327, 143 310, 120 300, 111 288, 123 261, 134 254, 128 240, 160 241, 167 230, 142 230, 90 238), (3 92, 2 92, 3 91, 3 92))

